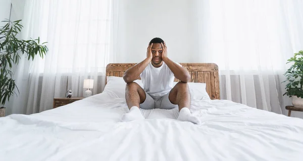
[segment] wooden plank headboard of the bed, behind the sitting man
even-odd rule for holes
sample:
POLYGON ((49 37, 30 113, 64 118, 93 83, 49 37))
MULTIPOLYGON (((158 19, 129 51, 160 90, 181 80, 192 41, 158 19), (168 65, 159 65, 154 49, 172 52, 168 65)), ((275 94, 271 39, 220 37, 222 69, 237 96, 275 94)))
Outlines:
MULTIPOLYGON (((206 83, 211 99, 220 99, 218 66, 214 63, 180 63, 191 75, 190 82, 206 83)), ((106 76, 123 77, 135 63, 113 63, 106 67, 106 76)), ((179 80, 175 78, 175 82, 179 80)))

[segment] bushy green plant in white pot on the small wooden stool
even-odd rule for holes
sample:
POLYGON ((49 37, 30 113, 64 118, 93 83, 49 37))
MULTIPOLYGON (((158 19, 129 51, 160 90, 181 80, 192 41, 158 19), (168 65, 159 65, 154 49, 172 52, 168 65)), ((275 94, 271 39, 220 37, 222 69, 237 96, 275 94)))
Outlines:
POLYGON ((283 82, 288 83, 283 96, 286 94, 292 97, 293 106, 303 107, 303 50, 294 53, 287 63, 293 63, 293 65, 284 74, 286 80, 283 82))

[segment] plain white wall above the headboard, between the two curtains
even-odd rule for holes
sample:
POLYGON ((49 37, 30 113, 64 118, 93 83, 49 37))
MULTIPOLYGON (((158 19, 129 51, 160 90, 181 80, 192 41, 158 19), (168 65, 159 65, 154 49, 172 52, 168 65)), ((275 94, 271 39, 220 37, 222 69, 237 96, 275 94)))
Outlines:
POLYGON ((168 57, 173 61, 196 62, 199 51, 193 2, 120 0, 117 63, 141 62, 146 58, 148 42, 154 37, 166 42, 168 57))

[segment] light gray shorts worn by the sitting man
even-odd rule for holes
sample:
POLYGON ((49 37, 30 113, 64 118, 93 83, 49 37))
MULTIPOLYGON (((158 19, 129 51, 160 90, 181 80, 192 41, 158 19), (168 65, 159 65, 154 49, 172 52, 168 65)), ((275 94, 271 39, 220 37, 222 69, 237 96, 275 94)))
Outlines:
POLYGON ((141 109, 150 110, 150 109, 174 109, 178 107, 178 104, 173 104, 169 100, 169 92, 164 96, 151 96, 146 93, 146 98, 143 103, 140 104, 141 109))

